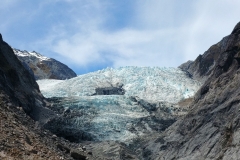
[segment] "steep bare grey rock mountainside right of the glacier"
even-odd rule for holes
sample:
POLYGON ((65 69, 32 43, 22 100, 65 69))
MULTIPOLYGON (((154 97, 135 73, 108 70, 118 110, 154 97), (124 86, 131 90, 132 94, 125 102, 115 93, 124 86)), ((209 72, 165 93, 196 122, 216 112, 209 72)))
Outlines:
POLYGON ((189 113, 143 149, 145 159, 240 159, 240 23, 188 67, 206 78, 189 113))

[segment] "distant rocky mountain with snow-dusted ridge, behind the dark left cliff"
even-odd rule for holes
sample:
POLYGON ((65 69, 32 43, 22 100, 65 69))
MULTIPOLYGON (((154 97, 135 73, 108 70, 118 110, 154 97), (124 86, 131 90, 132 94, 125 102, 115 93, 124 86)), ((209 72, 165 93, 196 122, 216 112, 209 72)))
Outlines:
POLYGON ((23 63, 25 68, 34 74, 35 79, 70 79, 76 77, 76 73, 65 64, 53 59, 47 58, 35 51, 21 51, 13 49, 15 55, 23 63))

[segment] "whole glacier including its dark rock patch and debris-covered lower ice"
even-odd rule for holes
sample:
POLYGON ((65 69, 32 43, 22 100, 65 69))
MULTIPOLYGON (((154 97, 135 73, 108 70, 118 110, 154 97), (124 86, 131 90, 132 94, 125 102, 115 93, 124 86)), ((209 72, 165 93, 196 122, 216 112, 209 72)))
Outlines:
POLYGON ((38 84, 60 114, 46 128, 72 141, 125 143, 165 130, 184 112, 176 103, 201 85, 180 69, 157 67, 107 68, 38 84))

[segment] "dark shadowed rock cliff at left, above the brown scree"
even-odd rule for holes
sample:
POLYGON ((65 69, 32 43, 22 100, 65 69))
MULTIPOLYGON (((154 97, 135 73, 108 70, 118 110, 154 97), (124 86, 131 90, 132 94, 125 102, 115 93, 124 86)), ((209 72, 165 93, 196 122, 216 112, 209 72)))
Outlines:
POLYGON ((16 105, 22 107, 35 120, 44 122, 54 116, 51 110, 44 107, 44 97, 34 77, 2 38, 0 41, 0 90, 5 91, 16 105))

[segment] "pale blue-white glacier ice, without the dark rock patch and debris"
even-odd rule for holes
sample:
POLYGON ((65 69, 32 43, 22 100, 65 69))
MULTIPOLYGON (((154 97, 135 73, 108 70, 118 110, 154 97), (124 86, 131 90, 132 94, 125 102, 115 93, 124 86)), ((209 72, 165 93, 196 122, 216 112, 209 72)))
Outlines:
MULTIPOLYGON (((177 103, 191 97, 201 83, 177 68, 106 68, 69 80, 39 80, 45 97, 67 97, 62 105, 78 110, 81 116, 69 120, 69 126, 94 135, 96 140, 130 140, 157 131, 161 124, 152 120, 153 112, 139 102, 177 103), (124 95, 94 95, 96 88, 122 86, 124 95)), ((168 108, 172 114, 175 106, 168 108)), ((167 112, 168 112, 167 111, 167 112)), ((165 119, 165 117, 163 117, 165 119)))

